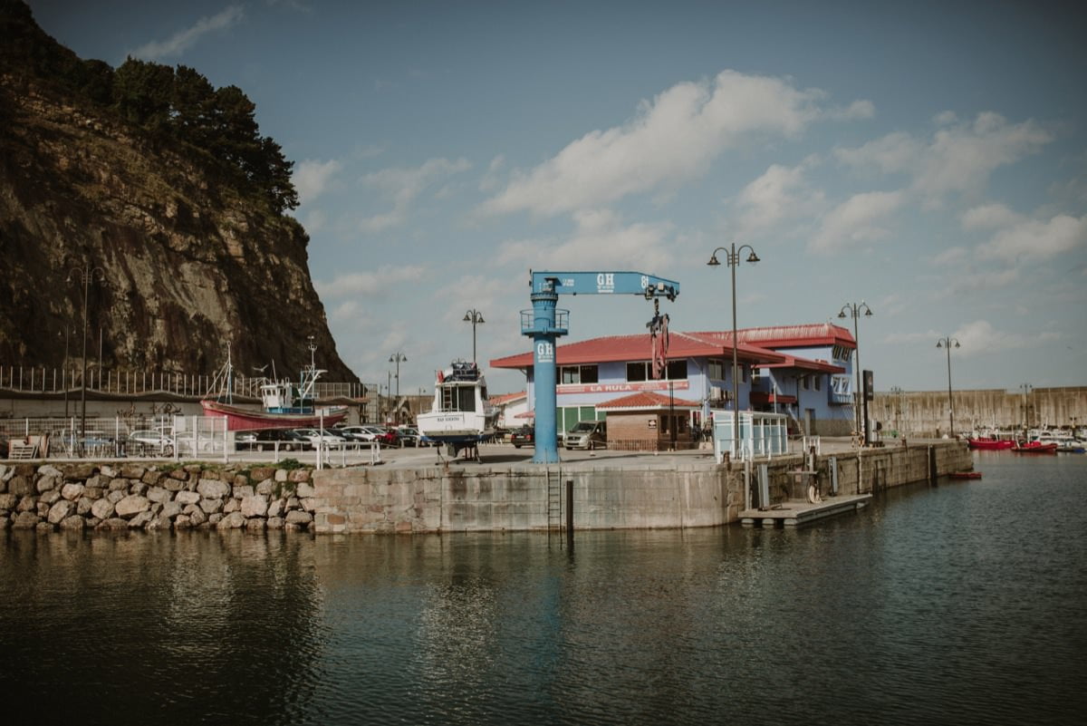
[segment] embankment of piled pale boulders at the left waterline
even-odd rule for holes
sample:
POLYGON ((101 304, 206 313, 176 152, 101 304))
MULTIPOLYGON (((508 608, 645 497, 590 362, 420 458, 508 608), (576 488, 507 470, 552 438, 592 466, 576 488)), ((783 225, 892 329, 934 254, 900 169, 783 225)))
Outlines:
POLYGON ((0 464, 0 530, 309 529, 310 468, 0 464))

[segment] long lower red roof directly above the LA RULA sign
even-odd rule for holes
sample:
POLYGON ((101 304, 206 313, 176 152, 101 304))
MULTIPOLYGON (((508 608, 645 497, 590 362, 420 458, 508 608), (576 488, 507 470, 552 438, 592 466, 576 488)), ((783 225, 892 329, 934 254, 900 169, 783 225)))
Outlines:
MULTIPOLYGON (((722 341, 709 337, 711 334, 671 333, 669 337, 669 360, 684 358, 730 356, 732 335, 722 341)), ((652 353, 652 340, 648 333, 638 335, 607 336, 579 342, 555 346, 557 365, 579 363, 603 363, 614 361, 648 361, 652 353)), ((758 364, 784 363, 786 356, 765 348, 740 342, 736 347, 737 359, 758 364)), ((532 352, 497 358, 490 362, 495 368, 530 368, 532 352)))

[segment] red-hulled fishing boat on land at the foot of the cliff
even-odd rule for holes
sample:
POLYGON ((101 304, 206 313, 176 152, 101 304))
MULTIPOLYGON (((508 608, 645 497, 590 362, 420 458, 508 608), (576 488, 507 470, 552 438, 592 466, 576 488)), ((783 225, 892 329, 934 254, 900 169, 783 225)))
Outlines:
POLYGON ((226 365, 220 372, 224 392, 216 399, 200 401, 204 415, 226 418, 226 428, 230 431, 251 431, 265 428, 317 428, 332 426, 343 421, 347 417, 346 405, 325 408, 316 405, 317 378, 325 371, 314 365, 313 353, 315 350, 316 348, 311 345, 310 364, 302 368, 297 384, 292 380, 270 379, 264 379, 260 384, 260 411, 234 405, 234 368, 230 364, 229 351, 227 351, 226 365))

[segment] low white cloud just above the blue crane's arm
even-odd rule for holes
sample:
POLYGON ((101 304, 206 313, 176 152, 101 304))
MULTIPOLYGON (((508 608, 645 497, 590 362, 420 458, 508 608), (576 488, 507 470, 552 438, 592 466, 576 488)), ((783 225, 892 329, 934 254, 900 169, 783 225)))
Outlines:
POLYGON ((529 267, 614 267, 616 262, 634 270, 664 270, 674 264, 675 246, 665 245, 672 225, 637 223, 624 225, 611 210, 574 213, 577 228, 565 241, 514 240, 499 248, 499 264, 522 263, 529 267))

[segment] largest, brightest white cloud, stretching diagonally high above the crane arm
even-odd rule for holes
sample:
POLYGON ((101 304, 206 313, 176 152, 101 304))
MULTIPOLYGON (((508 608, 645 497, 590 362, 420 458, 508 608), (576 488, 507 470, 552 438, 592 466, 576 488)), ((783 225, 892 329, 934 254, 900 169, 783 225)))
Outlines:
MULTIPOLYGON (((704 174, 727 149, 760 136, 795 138, 813 121, 833 115, 820 110, 823 96, 734 71, 677 84, 644 101, 627 124, 586 134, 536 168, 514 174, 480 211, 552 215, 632 193, 666 192, 704 174)), ((849 113, 867 110, 862 101, 849 113)))

